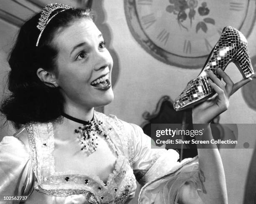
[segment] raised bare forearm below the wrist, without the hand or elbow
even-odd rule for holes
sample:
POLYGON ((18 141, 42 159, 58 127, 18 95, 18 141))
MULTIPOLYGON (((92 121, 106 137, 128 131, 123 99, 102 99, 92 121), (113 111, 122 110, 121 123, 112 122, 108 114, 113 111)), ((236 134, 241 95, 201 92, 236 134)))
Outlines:
MULTIPOLYGON (((213 139, 210 124, 201 126, 204 128, 203 140, 210 141, 213 139)), ((228 203, 228 197, 223 164, 217 146, 215 144, 210 145, 210 147, 202 146, 202 144, 198 145, 199 166, 205 176, 204 185, 206 190, 206 193, 200 192, 199 194, 204 203, 226 204, 228 203)))

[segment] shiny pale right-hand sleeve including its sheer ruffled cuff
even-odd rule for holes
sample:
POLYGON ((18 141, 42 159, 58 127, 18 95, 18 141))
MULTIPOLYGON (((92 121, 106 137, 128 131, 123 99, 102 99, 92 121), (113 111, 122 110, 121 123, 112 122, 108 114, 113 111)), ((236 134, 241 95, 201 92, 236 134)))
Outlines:
POLYGON ((185 184, 205 192, 205 178, 200 172, 198 158, 178 162, 179 154, 173 149, 151 149, 151 138, 137 125, 133 129, 133 169, 136 179, 143 185, 139 203, 177 204, 185 184))

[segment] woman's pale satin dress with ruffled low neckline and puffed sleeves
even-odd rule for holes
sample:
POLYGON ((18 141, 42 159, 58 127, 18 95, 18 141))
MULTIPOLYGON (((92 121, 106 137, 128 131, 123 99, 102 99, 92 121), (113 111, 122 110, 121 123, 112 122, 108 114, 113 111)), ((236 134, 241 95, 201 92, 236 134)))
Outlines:
POLYGON ((137 125, 98 112, 95 117, 118 155, 106 184, 95 174, 56 171, 53 125, 29 123, 23 129, 28 148, 17 134, 0 142, 0 196, 28 196, 27 204, 126 203, 134 197, 137 180, 144 185, 139 203, 176 204, 186 182, 203 189, 197 158, 177 162, 176 151, 151 149, 150 137, 137 125))

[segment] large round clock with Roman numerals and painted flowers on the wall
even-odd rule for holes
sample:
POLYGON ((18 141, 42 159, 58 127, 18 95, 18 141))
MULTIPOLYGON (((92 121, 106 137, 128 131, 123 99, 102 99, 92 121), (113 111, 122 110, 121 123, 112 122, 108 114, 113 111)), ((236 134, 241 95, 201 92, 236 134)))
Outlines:
POLYGON ((225 26, 246 37, 255 22, 254 0, 124 0, 128 27, 156 59, 202 67, 225 26))

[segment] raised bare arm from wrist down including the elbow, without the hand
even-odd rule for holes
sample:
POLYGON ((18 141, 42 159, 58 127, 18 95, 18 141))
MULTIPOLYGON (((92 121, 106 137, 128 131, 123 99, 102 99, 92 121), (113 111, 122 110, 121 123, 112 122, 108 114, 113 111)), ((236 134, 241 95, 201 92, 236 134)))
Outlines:
MULTIPOLYGON (((211 140, 212 133, 210 124, 200 124, 198 129, 204 128, 204 140, 211 140)), ((207 144, 209 148, 209 144, 207 144)), ((190 184, 184 185, 179 204, 227 204, 228 196, 226 190, 225 174, 220 158, 219 150, 215 144, 210 144, 212 149, 204 149, 202 144, 198 146, 198 159, 200 170, 205 177, 205 190, 197 191, 190 184)))

